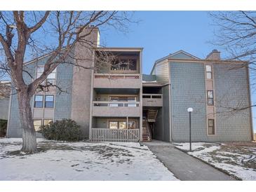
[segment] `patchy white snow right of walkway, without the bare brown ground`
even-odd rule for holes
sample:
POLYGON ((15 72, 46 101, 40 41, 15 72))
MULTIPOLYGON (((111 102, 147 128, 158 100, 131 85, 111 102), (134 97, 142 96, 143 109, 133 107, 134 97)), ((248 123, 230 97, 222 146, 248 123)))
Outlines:
MULTIPOLYGON (((189 150, 189 143, 175 143, 178 149, 189 150)), ((246 167, 245 162, 254 160, 255 147, 247 147, 249 154, 239 153, 239 151, 220 151, 224 144, 213 144, 204 142, 192 143, 191 152, 187 152, 189 155, 210 163, 214 167, 220 168, 229 172, 242 180, 256 180, 256 170, 250 167, 246 167), (212 153, 214 152, 214 153, 212 153), (220 162, 221 161, 221 162, 220 162)))

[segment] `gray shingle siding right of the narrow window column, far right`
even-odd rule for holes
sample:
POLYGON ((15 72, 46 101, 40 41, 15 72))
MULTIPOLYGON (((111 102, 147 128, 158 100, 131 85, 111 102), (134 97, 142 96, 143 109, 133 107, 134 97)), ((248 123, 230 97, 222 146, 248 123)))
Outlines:
POLYGON ((215 64, 216 136, 210 140, 250 141, 250 109, 237 113, 223 113, 226 107, 250 106, 247 69, 233 69, 237 64, 215 64), (231 69, 231 70, 230 70, 231 69), (224 109, 223 109, 224 107, 224 109))

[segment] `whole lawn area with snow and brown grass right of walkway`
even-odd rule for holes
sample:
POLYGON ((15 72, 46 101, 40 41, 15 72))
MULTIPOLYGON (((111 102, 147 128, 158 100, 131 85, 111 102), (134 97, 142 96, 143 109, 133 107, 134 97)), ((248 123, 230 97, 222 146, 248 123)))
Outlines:
MULTIPOLYGON (((189 151, 189 143, 174 144, 178 149, 189 151)), ((256 180, 256 144, 195 142, 192 151, 187 153, 239 179, 256 180)))

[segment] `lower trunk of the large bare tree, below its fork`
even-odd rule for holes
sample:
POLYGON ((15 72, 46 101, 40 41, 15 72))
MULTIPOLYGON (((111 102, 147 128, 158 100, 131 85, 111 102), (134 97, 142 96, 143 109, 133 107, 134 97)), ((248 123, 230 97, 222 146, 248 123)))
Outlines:
POLYGON ((30 97, 27 92, 18 92, 20 123, 22 126, 22 149, 26 153, 36 152, 36 132, 30 107, 30 97))

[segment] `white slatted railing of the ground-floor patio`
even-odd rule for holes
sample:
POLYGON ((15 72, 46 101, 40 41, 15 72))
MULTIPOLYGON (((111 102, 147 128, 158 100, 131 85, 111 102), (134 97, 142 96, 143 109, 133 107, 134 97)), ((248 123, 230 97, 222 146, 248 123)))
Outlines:
POLYGON ((92 128, 90 130, 91 142, 139 142, 139 129, 102 129, 92 128))

